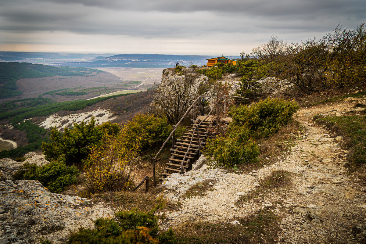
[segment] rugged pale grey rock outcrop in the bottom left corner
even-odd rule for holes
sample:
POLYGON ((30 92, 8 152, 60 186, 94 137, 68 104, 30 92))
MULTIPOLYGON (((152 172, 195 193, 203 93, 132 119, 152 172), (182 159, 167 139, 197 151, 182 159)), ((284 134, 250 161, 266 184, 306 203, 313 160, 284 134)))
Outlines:
MULTIPOLYGON (((26 161, 38 166, 47 164, 44 155, 25 155, 26 161)), ((0 166, 19 168, 23 163, 0 159, 0 166)), ((55 194, 38 181, 12 181, 10 169, 0 169, 0 244, 39 243, 48 239, 63 243, 79 227, 92 228, 97 218, 110 218, 114 211, 103 203, 79 196, 55 194)))

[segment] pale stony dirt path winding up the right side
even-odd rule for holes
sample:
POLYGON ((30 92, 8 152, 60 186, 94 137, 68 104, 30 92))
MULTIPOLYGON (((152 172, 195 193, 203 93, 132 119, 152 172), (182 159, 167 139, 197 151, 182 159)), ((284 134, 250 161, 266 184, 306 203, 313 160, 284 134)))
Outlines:
POLYGON ((275 242, 360 243, 366 233, 362 233, 366 230, 365 186, 344 168, 347 151, 339 146, 341 138, 337 138, 337 142, 329 131, 311 121, 318 113, 334 113, 336 116, 353 108, 350 101, 341 105, 318 105, 299 110, 296 120, 303 131, 295 146, 283 152, 275 164, 257 172, 226 173, 203 165, 184 176, 164 181, 169 189, 165 195, 172 201, 179 201, 181 206, 178 211, 165 213, 167 220, 163 227, 188 220, 231 222, 269 207, 281 218, 281 231, 275 242), (291 172, 291 187, 263 195, 262 200, 235 205, 240 195, 258 187, 258 182, 273 170, 291 172), (181 197, 187 188, 205 179, 218 181, 213 191, 208 191, 206 196, 181 197))

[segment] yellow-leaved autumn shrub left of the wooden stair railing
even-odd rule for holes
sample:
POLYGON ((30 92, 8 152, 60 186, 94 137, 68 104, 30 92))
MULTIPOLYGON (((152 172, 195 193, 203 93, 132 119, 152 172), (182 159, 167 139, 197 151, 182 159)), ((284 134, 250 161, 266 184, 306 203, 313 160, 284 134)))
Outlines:
POLYGON ((124 190, 132 183, 133 160, 141 148, 141 138, 131 144, 127 129, 116 136, 105 134, 101 146, 93 146, 85 161, 85 185, 91 193, 124 190))

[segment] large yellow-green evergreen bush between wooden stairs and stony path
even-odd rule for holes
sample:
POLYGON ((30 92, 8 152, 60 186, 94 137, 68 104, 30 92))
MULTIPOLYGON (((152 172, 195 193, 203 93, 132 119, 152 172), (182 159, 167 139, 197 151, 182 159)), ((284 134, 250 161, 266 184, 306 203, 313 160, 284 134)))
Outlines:
POLYGON ((296 102, 266 99, 231 110, 232 123, 224 136, 208 140, 205 154, 219 167, 233 167, 257 161, 259 147, 254 139, 275 134, 290 123, 299 108, 296 102))

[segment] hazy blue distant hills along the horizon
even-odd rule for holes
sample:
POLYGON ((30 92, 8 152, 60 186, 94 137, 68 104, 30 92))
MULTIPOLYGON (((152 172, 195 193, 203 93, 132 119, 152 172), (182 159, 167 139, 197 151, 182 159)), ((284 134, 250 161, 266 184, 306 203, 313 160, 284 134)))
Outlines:
MULTIPOLYGON (((206 59, 220 55, 164 55, 164 54, 93 54, 93 53, 29 53, 0 52, 0 61, 18 61, 70 67, 130 67, 130 68, 168 68, 179 62, 181 65, 206 64, 206 59)), ((227 56, 237 59, 239 56, 227 56)))

